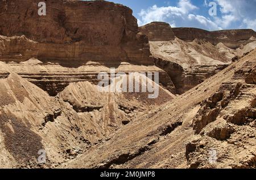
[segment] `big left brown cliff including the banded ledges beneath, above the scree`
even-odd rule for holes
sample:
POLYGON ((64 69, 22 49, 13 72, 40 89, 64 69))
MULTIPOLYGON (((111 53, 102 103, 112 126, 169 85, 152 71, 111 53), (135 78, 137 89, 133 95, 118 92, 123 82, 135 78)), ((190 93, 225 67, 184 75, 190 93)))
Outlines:
MULTIPOLYGON (((0 2, 0 60, 13 72, 55 96, 72 82, 97 83, 97 74, 159 72, 160 83, 175 93, 166 72, 154 66, 148 39, 131 9, 106 1, 0 2)), ((6 77, 0 72, 0 78, 6 77)))

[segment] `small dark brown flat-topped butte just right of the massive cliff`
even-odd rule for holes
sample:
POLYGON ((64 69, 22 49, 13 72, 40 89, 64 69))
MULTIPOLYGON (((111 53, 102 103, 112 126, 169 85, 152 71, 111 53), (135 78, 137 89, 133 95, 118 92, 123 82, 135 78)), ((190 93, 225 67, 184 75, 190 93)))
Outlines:
POLYGON ((170 41, 175 35, 171 26, 164 22, 152 22, 139 27, 139 31, 148 36, 149 41, 170 41))

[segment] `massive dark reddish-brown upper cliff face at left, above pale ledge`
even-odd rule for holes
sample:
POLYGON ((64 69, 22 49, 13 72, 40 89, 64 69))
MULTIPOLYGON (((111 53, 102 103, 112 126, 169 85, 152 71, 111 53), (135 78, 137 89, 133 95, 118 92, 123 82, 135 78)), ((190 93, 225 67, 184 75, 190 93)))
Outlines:
POLYGON ((61 61, 152 64, 147 37, 139 34, 128 7, 105 1, 47 1, 46 16, 39 16, 38 2, 0 2, 0 35, 28 39, 2 40, 10 53, 61 61))

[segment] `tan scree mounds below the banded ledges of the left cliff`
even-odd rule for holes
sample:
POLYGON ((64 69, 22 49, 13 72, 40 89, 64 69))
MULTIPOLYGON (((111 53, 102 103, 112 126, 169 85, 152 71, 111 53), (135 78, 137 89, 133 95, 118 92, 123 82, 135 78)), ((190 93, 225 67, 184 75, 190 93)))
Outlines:
POLYGON ((86 82, 70 83, 51 97, 46 91, 9 72, 0 79, 1 168, 55 168, 95 144, 151 108, 175 96, 159 87, 159 97, 148 93, 104 93, 86 82), (39 150, 47 162, 38 164, 39 150))

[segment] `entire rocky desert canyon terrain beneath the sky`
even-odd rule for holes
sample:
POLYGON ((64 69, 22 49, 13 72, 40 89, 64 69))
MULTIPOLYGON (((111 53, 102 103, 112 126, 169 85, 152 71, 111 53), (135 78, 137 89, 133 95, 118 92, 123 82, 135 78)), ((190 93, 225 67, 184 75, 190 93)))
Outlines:
POLYGON ((138 27, 107 1, 48 0, 40 16, 39 2, 0 1, 0 168, 255 168, 254 31, 138 27), (99 91, 101 72, 125 86, 113 68, 158 97, 99 91))

